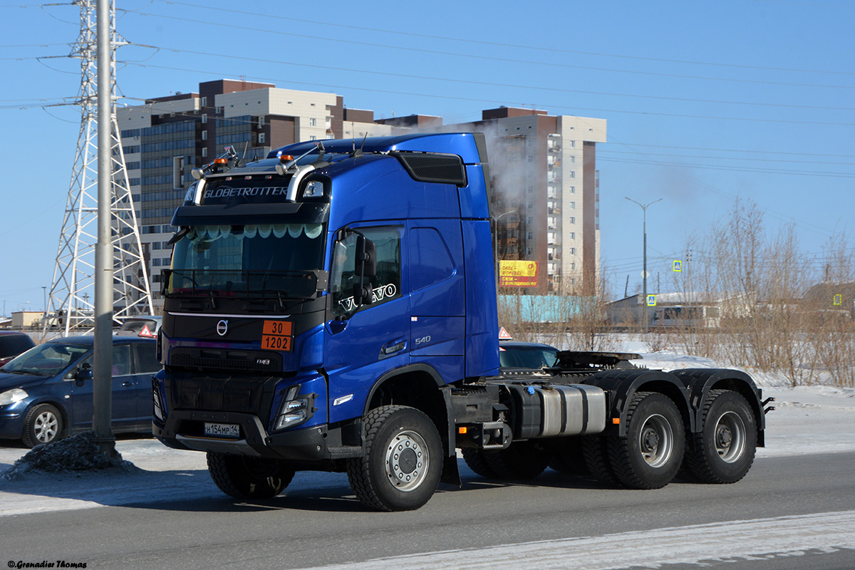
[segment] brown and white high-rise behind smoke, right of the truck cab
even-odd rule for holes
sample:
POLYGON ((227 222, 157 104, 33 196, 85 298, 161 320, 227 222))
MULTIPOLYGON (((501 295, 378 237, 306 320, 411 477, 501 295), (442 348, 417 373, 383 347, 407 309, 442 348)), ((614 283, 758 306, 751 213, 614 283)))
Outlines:
POLYGON ((593 295, 599 274, 596 144, 605 120, 486 109, 443 131, 484 132, 499 259, 538 261, 541 293, 593 295))

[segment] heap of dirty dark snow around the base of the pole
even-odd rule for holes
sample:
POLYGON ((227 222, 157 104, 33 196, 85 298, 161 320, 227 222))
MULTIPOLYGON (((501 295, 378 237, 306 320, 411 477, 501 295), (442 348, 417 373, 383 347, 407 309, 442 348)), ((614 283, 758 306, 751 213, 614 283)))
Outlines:
POLYGON ((30 471, 57 473, 103 469, 132 471, 136 467, 124 461, 118 451, 112 456, 103 454, 98 449, 95 434, 83 432, 53 444, 37 445, 4 471, 3 479, 20 479, 23 473, 30 471))

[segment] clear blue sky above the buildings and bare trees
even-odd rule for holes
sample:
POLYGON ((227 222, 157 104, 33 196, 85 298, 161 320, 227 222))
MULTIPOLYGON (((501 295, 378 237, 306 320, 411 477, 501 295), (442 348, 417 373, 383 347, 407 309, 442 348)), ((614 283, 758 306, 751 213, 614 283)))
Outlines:
MULTIPOLYGON (((0 302, 39 310, 50 287, 80 110, 67 56, 80 11, 0 0, 7 183, 0 302), (29 302, 29 303, 27 303, 29 302)), ((687 235, 750 199, 805 255, 855 232, 855 3, 118 2, 128 104, 245 76, 332 91, 375 116, 476 120, 534 106, 608 120, 598 145, 601 253, 611 291, 670 272, 687 235), (242 12, 246 9, 247 12, 242 12), (152 47, 144 47, 152 46, 152 47)), ((855 247, 855 240, 850 238, 855 247)))

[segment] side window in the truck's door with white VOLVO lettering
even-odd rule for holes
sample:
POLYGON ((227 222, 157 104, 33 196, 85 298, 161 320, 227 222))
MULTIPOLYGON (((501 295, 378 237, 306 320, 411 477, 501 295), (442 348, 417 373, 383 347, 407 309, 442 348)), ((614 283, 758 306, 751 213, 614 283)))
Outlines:
MULTIPOLYGON (((367 278, 371 284, 371 304, 386 303, 401 296, 401 234, 395 227, 360 227, 358 231, 374 242, 377 273, 367 278)), ((355 273, 357 235, 339 240, 333 249, 333 271, 330 291, 333 314, 353 314, 358 307, 353 299, 353 286, 359 284, 355 273)), ((364 302, 363 302, 364 303, 364 302)))

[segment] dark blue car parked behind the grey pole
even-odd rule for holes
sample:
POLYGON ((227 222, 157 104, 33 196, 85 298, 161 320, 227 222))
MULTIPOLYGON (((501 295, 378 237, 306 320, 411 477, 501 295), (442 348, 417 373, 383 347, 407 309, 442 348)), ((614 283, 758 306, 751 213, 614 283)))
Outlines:
MULTIPOLYGON (((0 368, 0 438, 27 447, 92 427, 94 337, 56 338, 0 368)), ((150 432, 151 376, 161 369, 152 338, 113 338, 113 431, 150 432)))

